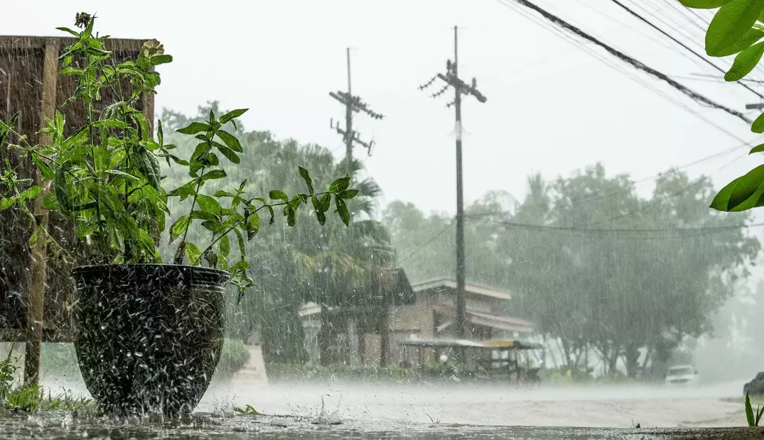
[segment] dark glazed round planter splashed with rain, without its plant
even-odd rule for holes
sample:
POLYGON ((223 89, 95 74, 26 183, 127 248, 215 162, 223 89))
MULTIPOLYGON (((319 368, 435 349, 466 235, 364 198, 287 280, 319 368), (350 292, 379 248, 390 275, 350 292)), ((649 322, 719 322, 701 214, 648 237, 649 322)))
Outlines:
POLYGON ((228 273, 99 265, 72 275, 79 371, 105 413, 191 413, 220 360, 228 273))

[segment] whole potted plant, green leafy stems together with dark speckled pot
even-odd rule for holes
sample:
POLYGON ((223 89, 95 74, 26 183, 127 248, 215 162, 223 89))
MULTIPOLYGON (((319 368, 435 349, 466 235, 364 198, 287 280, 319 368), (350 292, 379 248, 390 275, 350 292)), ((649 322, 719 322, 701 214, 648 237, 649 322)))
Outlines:
MULTIPOLYGON (((358 191, 350 178, 338 178, 326 191, 314 191, 306 169, 299 174, 307 191, 292 197, 273 190, 269 199, 253 197, 247 181, 231 191, 205 194, 205 183, 227 178, 224 163, 238 164, 244 153, 239 141, 223 130, 246 109, 193 122, 180 133, 198 143, 181 158, 175 146, 157 137, 136 107, 141 95, 156 93, 160 75, 154 66, 170 63, 162 45, 144 43, 140 56, 115 63, 105 50, 107 37, 93 34, 94 18, 78 14, 82 31, 59 28, 75 37, 60 58, 63 75, 76 79, 76 92, 64 102, 86 110, 81 127, 68 127, 56 111, 40 130, 48 145, 33 145, 18 133, 15 120, 0 123, 0 149, 18 151, 37 167, 41 185, 20 178, 8 160, 0 172, 0 209, 34 213, 27 204, 60 213, 76 226, 79 239, 106 255, 108 261, 74 268, 73 328, 80 371, 92 397, 108 413, 190 413, 199 403, 215 371, 223 342, 224 294, 227 284, 239 296, 253 285, 248 275, 245 243, 260 227, 261 213, 274 223, 277 210, 293 226, 296 211, 311 204, 324 224, 332 199, 347 225, 345 201, 358 191), (125 92, 125 83, 129 83, 125 92), (115 96, 100 103, 102 95, 115 96), (94 104, 102 111, 96 117, 94 104), (187 169, 189 180, 169 191, 163 188, 160 160, 187 169), (52 188, 52 190, 51 190, 52 188), (187 210, 167 223, 167 198, 186 201, 187 210), (188 239, 189 227, 200 223, 207 241, 188 239), (169 229, 177 248, 172 264, 163 264, 160 233, 169 229), (234 251, 233 249, 238 249, 234 251), (186 263, 187 264, 184 264, 186 263)), ((6 151, 7 153, 7 151, 6 151)), ((52 240, 36 226, 31 240, 52 240)))

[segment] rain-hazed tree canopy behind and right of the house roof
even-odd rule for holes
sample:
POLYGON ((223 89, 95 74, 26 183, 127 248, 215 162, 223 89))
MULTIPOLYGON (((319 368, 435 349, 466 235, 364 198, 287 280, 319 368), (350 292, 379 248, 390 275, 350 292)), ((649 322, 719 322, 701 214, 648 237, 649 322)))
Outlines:
MULTIPOLYGON (((707 208, 707 176, 671 169, 640 197, 629 175, 597 164, 569 178, 528 178, 511 203, 491 193, 465 212, 468 280, 514 293, 507 313, 534 320, 560 342, 565 363, 584 367, 593 350, 606 371, 660 368, 748 275, 758 239, 746 214, 707 208)), ((452 220, 395 201, 385 210, 393 245, 414 281, 451 274, 452 220)))

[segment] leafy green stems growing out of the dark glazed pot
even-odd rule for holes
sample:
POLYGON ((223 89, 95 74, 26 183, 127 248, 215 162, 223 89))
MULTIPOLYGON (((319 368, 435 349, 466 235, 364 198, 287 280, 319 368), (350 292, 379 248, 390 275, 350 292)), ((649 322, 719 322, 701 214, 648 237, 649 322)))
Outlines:
MULTIPOLYGON (((34 145, 32 133, 16 130, 18 115, 0 122, 0 148, 17 150, 40 173, 37 182, 20 178, 6 159, 0 174, 0 209, 15 207, 27 214, 34 225, 34 213, 27 204, 42 198, 43 207, 59 212, 76 225, 80 238, 103 249, 108 255, 106 262, 158 263, 162 258, 157 241, 170 214, 167 198, 188 199, 189 207, 169 226, 169 241, 179 240, 173 263, 187 260, 191 265, 206 263, 227 270, 240 294, 254 284, 248 275, 245 243, 260 230, 261 214, 267 213, 268 223, 272 224, 280 210, 287 225, 294 226, 299 207, 309 204, 312 214, 324 224, 333 202, 342 222, 350 223, 346 201, 358 194, 358 190, 349 188, 350 177, 335 179, 326 191, 316 191, 309 172, 302 167, 296 168, 305 186, 297 194, 274 189, 267 194, 268 200, 253 196, 244 189, 246 178, 232 188, 204 193, 209 182, 231 183, 221 163, 238 165, 244 149, 236 136, 223 127, 228 123, 235 127, 236 118, 246 109, 222 115, 210 111, 206 120, 193 121, 177 130, 195 143, 193 153, 185 158, 177 156, 173 152, 176 146, 164 142, 161 121, 157 122, 154 140, 146 117, 138 109, 141 97, 156 93, 160 84, 154 67, 170 63, 172 56, 164 53, 158 41, 151 40, 144 43, 137 59, 115 64, 112 53, 105 50, 108 37, 93 34, 93 18, 80 24, 84 27, 81 32, 60 28, 76 38, 61 56, 61 73, 72 76, 77 84, 76 92, 63 105, 83 105, 85 124, 70 127, 65 115, 56 111, 39 133, 50 143, 34 145), (101 102, 105 95, 115 96, 115 101, 101 102), (97 119, 96 104, 101 108, 97 119), (160 159, 172 164, 173 169, 183 169, 186 181, 167 191, 160 159), (48 193, 50 187, 53 191, 48 193), (206 230, 203 241, 189 241, 189 228, 194 223, 206 230), (232 252, 232 248, 238 252, 232 252)), ((51 239, 43 229, 36 225, 30 244, 51 239)))

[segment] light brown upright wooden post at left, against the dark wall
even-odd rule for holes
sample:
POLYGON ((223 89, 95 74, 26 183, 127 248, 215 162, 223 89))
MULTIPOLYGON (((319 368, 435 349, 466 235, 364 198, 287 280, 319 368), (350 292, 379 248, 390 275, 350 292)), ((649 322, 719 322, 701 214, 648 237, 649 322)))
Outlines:
MULTIPOLYGON (((56 85, 58 79, 59 42, 50 39, 45 45, 43 65, 43 99, 40 108, 40 127, 45 127, 45 118, 53 119, 56 111, 56 85)), ((50 143, 50 137, 41 133, 37 140, 40 145, 50 143)), ((44 186, 40 170, 34 169, 34 183, 49 192, 44 186)), ((35 198, 33 211, 37 226, 47 230, 48 210, 42 207, 42 198, 35 198)), ((45 281, 47 279, 47 237, 40 236, 32 249, 30 281, 27 298, 27 343, 24 348, 24 384, 37 385, 40 381, 40 355, 43 342, 45 281)))

